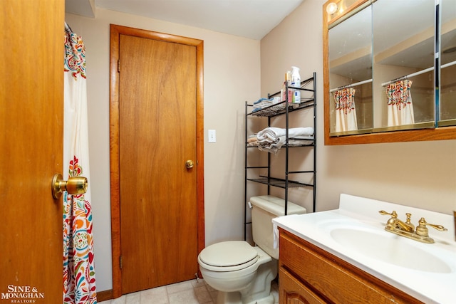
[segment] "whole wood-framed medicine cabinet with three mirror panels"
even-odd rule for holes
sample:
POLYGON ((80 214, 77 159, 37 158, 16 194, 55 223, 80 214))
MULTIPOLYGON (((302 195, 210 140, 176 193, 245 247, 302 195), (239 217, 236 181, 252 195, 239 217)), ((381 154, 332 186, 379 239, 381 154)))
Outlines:
POLYGON ((456 1, 323 5, 325 145, 456 139, 456 1))

